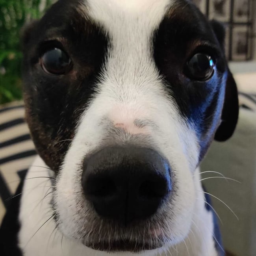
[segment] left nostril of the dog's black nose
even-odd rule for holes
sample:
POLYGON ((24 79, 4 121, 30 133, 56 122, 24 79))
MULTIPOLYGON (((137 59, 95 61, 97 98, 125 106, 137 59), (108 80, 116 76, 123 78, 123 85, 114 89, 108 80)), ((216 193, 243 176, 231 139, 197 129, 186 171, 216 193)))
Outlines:
POLYGON ((117 193, 117 187, 109 177, 88 177, 86 194, 89 197, 112 197, 117 193))

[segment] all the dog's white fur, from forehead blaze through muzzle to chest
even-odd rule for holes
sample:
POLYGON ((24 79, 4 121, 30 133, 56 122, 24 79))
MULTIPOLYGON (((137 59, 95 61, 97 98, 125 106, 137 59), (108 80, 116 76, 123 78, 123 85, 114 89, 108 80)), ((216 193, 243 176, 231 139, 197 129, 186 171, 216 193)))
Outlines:
MULTIPOLYGON (((87 204, 82 194, 79 167, 85 155, 95 150, 106 137, 102 118, 108 117, 113 126, 122 124, 132 133, 147 133, 154 145, 169 160, 176 177, 177 196, 165 207, 170 210, 165 226, 169 239, 165 250, 179 256, 215 256, 212 239, 212 216, 204 209, 204 198, 199 182, 197 137, 193 127, 183 120, 152 58, 152 34, 158 28, 168 8, 175 4, 170 0, 88 0, 88 6, 80 6, 85 16, 98 22, 111 39, 106 65, 95 97, 83 113, 74 141, 65 156, 56 182, 54 200, 59 212, 59 229, 54 231, 51 219, 30 240, 30 237, 52 214, 50 198, 41 200, 47 187, 39 186, 40 179, 26 180, 22 196, 20 221, 20 247, 25 256, 60 255, 112 255, 96 252, 79 242, 87 225, 87 204), (147 126, 143 131, 130 128, 135 119, 150 120, 157 129, 147 126), (99 125, 100 124, 100 125, 99 125), (195 175, 193 177, 193 175, 195 175), (37 187, 38 186, 38 187, 37 187), (37 187, 37 188, 34 188, 37 187), (33 190, 32 190, 33 189, 33 190), (56 235, 55 235, 56 232, 56 235), (63 232, 63 243, 61 237, 63 232), (75 240, 72 240, 72 237, 75 240), (175 237, 175 238, 174 238, 175 237), (172 240, 172 242, 171 242, 172 240), (46 253, 47 252, 47 253, 46 253)), ((81 12, 81 11, 80 11, 81 12)), ((129 142, 129 136, 118 137, 121 143, 129 142)), ((39 162, 41 160, 38 160, 39 162)), ((40 162, 34 165, 44 165, 40 162)), ((32 168, 27 178, 39 176, 32 168)), ((47 175, 46 169, 41 170, 47 175)), ((49 180, 47 184, 50 185, 49 180)), ((161 249, 141 255, 160 255, 161 249)), ((121 254, 119 254, 121 255, 121 254)), ((132 255, 124 253, 122 255, 132 255)), ((163 255, 166 255, 163 252, 163 255)))

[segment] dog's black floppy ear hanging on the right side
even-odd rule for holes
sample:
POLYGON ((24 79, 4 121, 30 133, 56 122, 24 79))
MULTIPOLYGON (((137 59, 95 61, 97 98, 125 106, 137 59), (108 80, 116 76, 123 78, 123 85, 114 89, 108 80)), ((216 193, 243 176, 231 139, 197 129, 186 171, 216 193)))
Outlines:
MULTIPOLYGON (((210 23, 224 53, 225 28, 223 24, 217 22, 216 20, 211 20, 210 23)), ((228 75, 226 79, 226 90, 221 114, 221 124, 218 127, 214 137, 216 141, 226 141, 232 136, 236 128, 239 113, 236 82, 229 69, 227 72, 228 75)))

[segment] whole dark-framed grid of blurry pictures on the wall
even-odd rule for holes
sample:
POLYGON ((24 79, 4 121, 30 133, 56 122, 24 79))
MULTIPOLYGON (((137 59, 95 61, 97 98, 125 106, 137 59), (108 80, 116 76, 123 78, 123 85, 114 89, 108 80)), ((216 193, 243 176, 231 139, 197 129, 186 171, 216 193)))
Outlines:
POLYGON ((226 27, 225 56, 229 61, 255 58, 256 41, 253 22, 256 0, 191 0, 209 20, 220 21, 226 27))

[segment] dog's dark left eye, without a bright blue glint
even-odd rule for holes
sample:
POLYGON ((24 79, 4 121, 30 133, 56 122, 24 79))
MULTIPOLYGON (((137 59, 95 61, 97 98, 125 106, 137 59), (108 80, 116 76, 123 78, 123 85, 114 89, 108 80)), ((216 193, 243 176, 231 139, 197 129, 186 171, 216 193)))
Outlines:
POLYGON ((56 75, 66 74, 72 66, 69 56, 59 48, 46 51, 41 57, 41 63, 44 70, 56 75))

